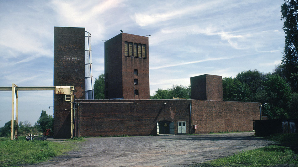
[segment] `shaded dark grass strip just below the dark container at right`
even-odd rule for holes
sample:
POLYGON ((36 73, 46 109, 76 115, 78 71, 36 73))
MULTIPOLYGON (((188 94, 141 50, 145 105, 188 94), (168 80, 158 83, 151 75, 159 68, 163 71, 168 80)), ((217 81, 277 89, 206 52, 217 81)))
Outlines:
POLYGON ((266 138, 285 145, 298 145, 298 133, 277 133, 266 138))

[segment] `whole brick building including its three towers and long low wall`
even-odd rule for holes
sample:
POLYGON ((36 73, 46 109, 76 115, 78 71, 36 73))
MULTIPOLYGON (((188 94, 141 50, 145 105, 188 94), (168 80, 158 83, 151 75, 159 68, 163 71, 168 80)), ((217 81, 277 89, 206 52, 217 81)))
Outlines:
MULTIPOLYGON (((75 136, 252 131, 259 119, 260 103, 222 101, 221 76, 192 77, 192 100, 149 100, 148 38, 125 33, 104 44, 105 99, 123 99, 84 100, 84 31, 54 32, 54 86, 75 85, 75 136)), ((70 105, 54 95, 54 137, 70 138, 70 127, 70 105)))

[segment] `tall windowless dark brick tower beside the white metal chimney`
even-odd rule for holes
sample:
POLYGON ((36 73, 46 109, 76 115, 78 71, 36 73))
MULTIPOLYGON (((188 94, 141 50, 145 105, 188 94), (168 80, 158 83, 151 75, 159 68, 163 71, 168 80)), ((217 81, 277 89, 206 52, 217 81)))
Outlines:
MULTIPOLYGON (((74 86, 75 99, 85 99, 85 28, 54 27, 54 86, 74 86)), ((55 138, 71 137, 70 111, 65 96, 54 93, 55 138)))

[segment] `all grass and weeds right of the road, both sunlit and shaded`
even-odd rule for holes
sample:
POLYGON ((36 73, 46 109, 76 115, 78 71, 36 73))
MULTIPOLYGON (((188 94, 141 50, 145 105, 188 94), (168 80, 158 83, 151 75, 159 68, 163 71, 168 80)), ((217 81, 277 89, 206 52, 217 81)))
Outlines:
POLYGON ((235 155, 212 160, 207 163, 194 163, 194 167, 255 167, 291 165, 298 166, 298 155, 295 151, 298 146, 298 133, 274 134, 266 137, 267 140, 278 142, 279 145, 270 145, 259 149, 242 151, 235 155))

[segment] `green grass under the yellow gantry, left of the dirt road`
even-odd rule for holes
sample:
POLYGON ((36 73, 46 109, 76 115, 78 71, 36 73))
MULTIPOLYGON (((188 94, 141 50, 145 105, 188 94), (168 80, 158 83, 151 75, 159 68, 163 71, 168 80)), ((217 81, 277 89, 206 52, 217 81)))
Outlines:
POLYGON ((72 149, 72 142, 26 141, 0 138, 0 166, 35 164, 72 149))

